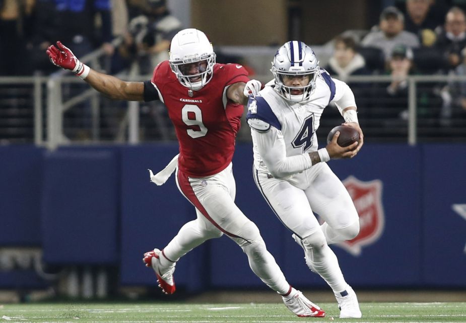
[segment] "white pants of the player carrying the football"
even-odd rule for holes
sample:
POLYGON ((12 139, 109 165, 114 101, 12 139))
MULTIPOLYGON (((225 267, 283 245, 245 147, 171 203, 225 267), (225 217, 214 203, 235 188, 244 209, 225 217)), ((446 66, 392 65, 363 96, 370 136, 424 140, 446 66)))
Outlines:
POLYGON ((305 250, 310 269, 319 274, 334 292, 344 291, 335 253, 328 243, 341 242, 359 233, 359 217, 340 179, 326 163, 319 163, 287 180, 254 171, 254 180, 280 221, 297 237, 305 250), (320 226, 314 213, 325 220, 320 226))

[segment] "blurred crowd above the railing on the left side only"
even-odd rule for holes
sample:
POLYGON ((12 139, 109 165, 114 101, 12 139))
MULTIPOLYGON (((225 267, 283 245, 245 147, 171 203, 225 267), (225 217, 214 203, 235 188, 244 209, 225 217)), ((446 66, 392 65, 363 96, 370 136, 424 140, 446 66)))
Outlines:
POLYGON ((57 40, 80 58, 102 48, 112 57, 113 73, 133 60, 145 66, 149 57, 168 57, 181 29, 164 0, 1 0, 0 8, 0 40, 9 44, 0 47, 0 75, 55 72, 44 52, 57 40), (117 47, 115 37, 123 37, 117 47))

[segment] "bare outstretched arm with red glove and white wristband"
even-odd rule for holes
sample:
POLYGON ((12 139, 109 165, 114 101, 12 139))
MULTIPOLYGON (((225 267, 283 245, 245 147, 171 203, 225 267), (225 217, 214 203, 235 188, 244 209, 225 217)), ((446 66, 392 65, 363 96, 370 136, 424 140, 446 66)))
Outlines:
POLYGON ((94 71, 81 63, 73 52, 59 41, 56 42, 56 46, 50 45, 47 48, 47 55, 52 64, 72 71, 105 96, 128 101, 144 100, 143 82, 125 82, 111 75, 94 71))

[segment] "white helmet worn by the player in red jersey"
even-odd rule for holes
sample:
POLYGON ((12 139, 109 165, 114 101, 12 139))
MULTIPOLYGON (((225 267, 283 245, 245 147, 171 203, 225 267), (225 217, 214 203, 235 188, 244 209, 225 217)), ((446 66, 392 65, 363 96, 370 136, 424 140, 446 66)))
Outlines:
POLYGON ((211 42, 201 30, 194 28, 179 31, 170 44, 170 68, 182 85, 191 90, 202 89, 212 79, 215 64, 215 52, 211 42), (199 69, 195 75, 187 74, 186 64, 207 61, 207 68, 199 69), (201 80, 191 82, 191 79, 201 80))

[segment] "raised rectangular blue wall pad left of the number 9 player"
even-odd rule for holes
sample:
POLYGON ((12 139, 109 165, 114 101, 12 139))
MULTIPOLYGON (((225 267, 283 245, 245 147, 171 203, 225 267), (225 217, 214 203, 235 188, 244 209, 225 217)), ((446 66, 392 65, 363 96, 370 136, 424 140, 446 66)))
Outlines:
POLYGON ((46 154, 42 190, 43 256, 57 264, 116 264, 117 154, 58 150, 46 154))

